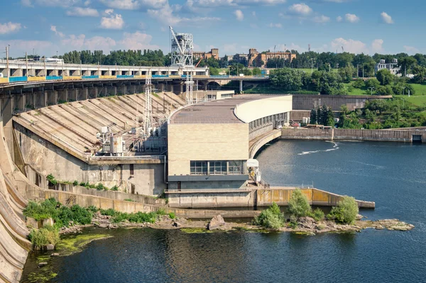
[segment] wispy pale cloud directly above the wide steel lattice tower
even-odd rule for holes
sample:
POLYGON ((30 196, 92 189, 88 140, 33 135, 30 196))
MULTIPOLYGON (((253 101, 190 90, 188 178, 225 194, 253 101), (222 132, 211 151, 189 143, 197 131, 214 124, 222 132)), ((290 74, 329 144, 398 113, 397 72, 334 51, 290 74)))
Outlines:
MULTIPOLYGON (((221 21, 221 18, 216 17, 193 17, 193 18, 183 18, 173 14, 173 9, 169 5, 165 5, 163 8, 155 10, 148 9, 148 15, 151 18, 154 18, 160 23, 163 23, 168 26, 178 26, 183 24, 194 24, 201 26, 203 23, 208 23, 211 21, 221 21)), ((163 28, 163 27, 162 27, 163 28)), ((163 30, 165 31, 165 30, 163 30)))

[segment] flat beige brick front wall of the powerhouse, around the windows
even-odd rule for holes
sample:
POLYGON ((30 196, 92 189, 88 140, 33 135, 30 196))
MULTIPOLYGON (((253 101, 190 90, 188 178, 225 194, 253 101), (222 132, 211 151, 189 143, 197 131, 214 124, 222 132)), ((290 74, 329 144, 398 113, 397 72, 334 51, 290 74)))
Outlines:
POLYGON ((168 174, 190 174, 190 160, 249 159, 249 124, 169 124, 168 174))

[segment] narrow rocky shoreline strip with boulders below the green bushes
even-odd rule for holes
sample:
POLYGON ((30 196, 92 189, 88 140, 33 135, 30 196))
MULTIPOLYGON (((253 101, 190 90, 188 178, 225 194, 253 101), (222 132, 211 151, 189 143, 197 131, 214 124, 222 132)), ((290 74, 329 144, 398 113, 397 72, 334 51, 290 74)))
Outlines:
MULTIPOLYGON (((362 220, 362 216, 358 216, 353 225, 339 224, 334 221, 315 221, 310 217, 301 217, 297 221, 297 226, 291 227, 290 225, 280 228, 275 231, 292 232, 305 235, 315 235, 318 233, 350 233, 361 232, 366 228, 374 228, 377 230, 389 231, 410 231, 414 228, 413 225, 399 221, 398 219, 384 219, 377 221, 362 220)), ((225 222, 222 216, 214 216, 210 221, 192 221, 187 218, 172 219, 169 216, 160 216, 155 223, 129 223, 128 221, 122 223, 112 223, 111 216, 104 216, 96 213, 92 220, 92 224, 84 226, 70 226, 69 228, 61 228, 60 234, 65 235, 69 233, 82 233, 82 229, 90 226, 99 228, 116 229, 116 228, 154 228, 154 229, 196 229, 196 231, 231 231, 231 230, 244 230, 244 231, 273 231, 261 226, 253 225, 252 223, 236 223, 225 222)))

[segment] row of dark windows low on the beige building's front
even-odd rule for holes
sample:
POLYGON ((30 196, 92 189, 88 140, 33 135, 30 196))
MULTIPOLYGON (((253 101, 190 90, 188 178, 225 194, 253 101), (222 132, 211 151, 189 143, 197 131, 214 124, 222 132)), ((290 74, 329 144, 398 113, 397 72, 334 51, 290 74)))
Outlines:
POLYGON ((243 160, 230 161, 191 161, 192 175, 226 175, 243 174, 243 160))

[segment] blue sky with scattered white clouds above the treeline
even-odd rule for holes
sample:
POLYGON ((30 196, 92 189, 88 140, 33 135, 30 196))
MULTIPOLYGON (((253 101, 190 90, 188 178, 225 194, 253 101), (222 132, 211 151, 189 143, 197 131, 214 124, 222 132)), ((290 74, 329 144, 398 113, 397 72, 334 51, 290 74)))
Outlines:
POLYGON ((219 55, 293 48, 426 52, 424 0, 0 0, 0 57, 161 48, 168 26, 219 55))

